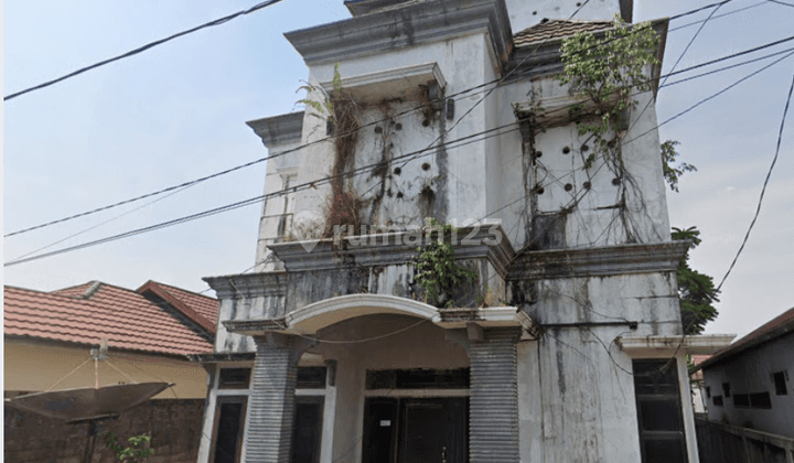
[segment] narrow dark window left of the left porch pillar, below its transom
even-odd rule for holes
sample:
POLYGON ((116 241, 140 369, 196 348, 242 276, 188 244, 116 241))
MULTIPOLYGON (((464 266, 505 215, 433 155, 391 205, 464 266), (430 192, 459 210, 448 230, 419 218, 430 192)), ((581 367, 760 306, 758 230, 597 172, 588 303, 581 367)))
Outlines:
POLYGON ((218 396, 210 461, 213 463, 238 463, 243 444, 247 398, 244 396, 218 396))

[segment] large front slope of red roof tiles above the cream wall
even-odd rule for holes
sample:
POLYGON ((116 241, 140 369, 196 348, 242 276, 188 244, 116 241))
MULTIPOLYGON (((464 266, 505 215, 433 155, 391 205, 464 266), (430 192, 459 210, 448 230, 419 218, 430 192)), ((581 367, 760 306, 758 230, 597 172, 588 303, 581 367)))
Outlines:
POLYGON ((81 344, 107 338, 111 348, 171 355, 213 351, 212 343, 175 317, 171 308, 110 284, 92 282, 51 293, 4 287, 3 303, 7 336, 81 344), (93 286, 93 293, 83 298, 93 286))

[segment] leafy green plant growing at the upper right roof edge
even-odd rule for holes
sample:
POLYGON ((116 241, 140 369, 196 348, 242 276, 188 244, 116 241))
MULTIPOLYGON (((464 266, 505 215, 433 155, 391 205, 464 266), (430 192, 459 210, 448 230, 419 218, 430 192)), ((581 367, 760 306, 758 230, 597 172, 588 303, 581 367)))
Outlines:
MULTIPOLYGON (((565 73, 557 77, 591 104, 571 107, 569 116, 577 121, 579 134, 590 133, 604 155, 616 141, 616 134, 610 140, 609 133, 618 133, 625 109, 634 105, 630 98, 633 89, 653 88, 653 79, 646 75, 645 67, 658 64, 655 56, 658 36, 650 22, 632 26, 615 15, 613 24, 602 39, 579 32, 564 40, 560 53, 565 73), (586 111, 589 106, 594 110, 586 111)), ((594 155, 591 155, 586 161, 587 166, 593 160, 594 155)))

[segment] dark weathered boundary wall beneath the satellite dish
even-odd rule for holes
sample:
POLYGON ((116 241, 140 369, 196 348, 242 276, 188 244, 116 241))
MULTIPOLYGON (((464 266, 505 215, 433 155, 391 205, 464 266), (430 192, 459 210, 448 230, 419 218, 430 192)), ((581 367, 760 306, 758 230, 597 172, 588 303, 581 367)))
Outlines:
POLYGON ((150 400, 122 412, 119 418, 98 421, 93 457, 88 423, 66 424, 62 420, 6 406, 4 461, 15 463, 112 462, 106 448, 112 431, 127 446, 127 438, 151 435, 154 455, 147 463, 195 463, 204 420, 204 399, 150 400))

